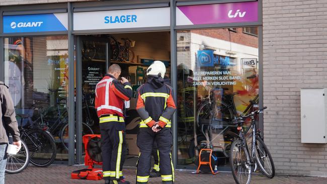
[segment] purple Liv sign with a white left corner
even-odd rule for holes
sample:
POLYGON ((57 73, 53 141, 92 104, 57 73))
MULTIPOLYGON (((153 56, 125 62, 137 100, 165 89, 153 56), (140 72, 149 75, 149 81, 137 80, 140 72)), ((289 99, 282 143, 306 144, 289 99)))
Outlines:
POLYGON ((258 22, 258 2, 179 6, 176 25, 258 22))

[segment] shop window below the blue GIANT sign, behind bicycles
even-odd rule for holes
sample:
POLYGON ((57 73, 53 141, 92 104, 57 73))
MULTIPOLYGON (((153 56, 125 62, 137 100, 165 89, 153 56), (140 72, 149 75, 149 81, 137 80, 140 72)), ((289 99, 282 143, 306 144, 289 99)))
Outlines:
MULTIPOLYGON (((68 135, 60 135, 63 125, 68 124, 67 36, 5 38, 4 48, 5 83, 16 114, 29 116, 17 116, 17 121, 26 129, 32 124, 48 127, 57 152, 67 153, 61 140, 68 140, 68 135)), ((41 159, 46 156, 38 155, 41 159)), ((65 158, 61 155, 60 159, 65 158)))

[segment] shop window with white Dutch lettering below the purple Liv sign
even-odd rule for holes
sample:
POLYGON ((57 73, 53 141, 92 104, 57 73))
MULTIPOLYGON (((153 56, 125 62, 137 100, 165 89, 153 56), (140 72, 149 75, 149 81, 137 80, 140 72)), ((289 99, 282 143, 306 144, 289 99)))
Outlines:
POLYGON ((177 32, 178 38, 190 38, 177 40, 177 48, 189 48, 177 52, 178 165, 195 167, 200 149, 211 148, 215 164, 229 168, 230 145, 238 134, 231 121, 258 103, 258 37, 228 31, 177 32))

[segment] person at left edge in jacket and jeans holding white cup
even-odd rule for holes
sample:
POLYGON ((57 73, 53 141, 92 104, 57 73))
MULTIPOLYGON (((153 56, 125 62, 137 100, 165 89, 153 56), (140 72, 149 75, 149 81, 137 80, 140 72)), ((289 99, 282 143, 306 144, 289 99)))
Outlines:
POLYGON ((13 137, 13 145, 17 146, 17 152, 21 149, 22 142, 19 138, 18 123, 16 120, 13 99, 8 86, 0 81, 0 184, 5 183, 5 170, 7 164, 8 134, 13 137))

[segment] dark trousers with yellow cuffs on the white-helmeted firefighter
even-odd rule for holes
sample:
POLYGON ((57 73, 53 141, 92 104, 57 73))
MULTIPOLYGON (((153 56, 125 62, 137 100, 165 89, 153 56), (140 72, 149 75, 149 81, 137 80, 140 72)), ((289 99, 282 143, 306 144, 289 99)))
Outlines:
POLYGON ((137 183, 147 183, 151 167, 151 153, 153 142, 157 143, 159 151, 159 169, 162 183, 173 183, 174 166, 172 162, 173 134, 170 128, 161 129, 155 133, 151 128, 140 128, 137 134, 137 147, 140 155, 137 161, 137 183))

